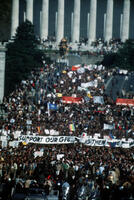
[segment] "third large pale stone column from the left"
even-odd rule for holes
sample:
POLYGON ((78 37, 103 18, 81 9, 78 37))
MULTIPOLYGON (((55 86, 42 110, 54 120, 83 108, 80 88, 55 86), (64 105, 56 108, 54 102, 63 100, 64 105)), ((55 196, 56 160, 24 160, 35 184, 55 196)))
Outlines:
POLYGON ((49 0, 42 0, 42 17, 40 37, 46 40, 48 37, 48 19, 49 19, 49 0))

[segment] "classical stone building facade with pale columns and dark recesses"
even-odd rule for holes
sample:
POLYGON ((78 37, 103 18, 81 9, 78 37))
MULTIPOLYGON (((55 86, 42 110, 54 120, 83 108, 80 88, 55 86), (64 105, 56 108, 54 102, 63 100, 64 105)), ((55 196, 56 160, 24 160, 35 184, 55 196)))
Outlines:
POLYGON ((41 39, 134 38, 134 0, 12 0, 11 37, 26 19, 41 39))

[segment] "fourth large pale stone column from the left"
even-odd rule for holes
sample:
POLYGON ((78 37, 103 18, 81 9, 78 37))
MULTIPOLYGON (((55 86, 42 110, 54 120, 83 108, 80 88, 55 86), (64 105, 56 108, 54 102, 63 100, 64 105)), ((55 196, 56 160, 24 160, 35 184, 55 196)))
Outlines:
POLYGON ((58 0, 56 42, 59 43, 63 37, 64 37, 64 0, 58 0))

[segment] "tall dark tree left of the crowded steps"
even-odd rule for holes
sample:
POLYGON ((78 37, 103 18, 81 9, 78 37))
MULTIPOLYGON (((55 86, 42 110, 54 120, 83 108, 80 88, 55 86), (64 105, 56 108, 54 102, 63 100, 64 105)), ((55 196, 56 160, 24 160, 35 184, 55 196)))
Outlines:
POLYGON ((28 20, 23 22, 17 28, 13 42, 7 45, 6 94, 26 79, 32 69, 43 65, 44 54, 37 48, 38 44, 33 24, 28 20))

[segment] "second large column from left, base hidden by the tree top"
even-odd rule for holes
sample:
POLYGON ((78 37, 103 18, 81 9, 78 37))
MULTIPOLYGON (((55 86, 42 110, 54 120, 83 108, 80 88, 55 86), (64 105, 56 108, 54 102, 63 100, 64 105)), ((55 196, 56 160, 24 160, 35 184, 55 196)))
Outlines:
POLYGON ((26 0, 26 19, 33 23, 33 0, 26 0))

